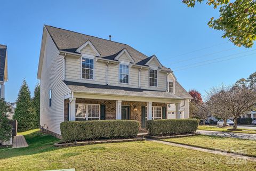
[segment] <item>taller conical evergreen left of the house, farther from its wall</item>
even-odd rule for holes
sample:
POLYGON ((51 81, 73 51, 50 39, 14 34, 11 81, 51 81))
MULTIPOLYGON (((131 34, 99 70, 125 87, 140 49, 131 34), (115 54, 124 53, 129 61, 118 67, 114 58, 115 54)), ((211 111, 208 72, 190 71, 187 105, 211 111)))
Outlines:
POLYGON ((18 121, 18 131, 22 132, 35 128, 35 117, 36 113, 31 103, 29 87, 24 79, 20 87, 13 116, 18 121))

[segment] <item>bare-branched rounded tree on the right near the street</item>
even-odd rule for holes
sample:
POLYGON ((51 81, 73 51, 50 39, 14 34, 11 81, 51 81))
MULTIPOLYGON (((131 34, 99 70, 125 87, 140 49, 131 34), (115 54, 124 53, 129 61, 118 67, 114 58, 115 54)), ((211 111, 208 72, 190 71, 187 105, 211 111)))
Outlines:
POLYGON ((234 129, 237 128, 237 118, 256 105, 256 92, 247 86, 222 86, 213 88, 207 104, 214 116, 226 120, 234 117, 234 129))

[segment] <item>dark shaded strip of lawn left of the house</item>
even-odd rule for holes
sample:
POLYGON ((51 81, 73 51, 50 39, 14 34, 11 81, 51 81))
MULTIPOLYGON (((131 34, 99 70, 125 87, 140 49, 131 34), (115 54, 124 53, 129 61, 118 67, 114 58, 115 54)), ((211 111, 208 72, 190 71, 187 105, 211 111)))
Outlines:
POLYGON ((53 146, 53 144, 60 140, 49 134, 41 133, 36 130, 34 132, 32 131, 29 134, 23 134, 23 135, 28 143, 28 147, 19 148, 19 149, 12 149, 12 148, 0 149, 0 160, 59 149, 53 146))

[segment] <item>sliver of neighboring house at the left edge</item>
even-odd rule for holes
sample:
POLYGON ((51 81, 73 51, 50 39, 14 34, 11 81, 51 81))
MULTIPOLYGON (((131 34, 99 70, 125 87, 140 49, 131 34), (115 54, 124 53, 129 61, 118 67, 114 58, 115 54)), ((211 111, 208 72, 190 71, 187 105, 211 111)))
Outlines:
POLYGON ((7 81, 7 46, 0 45, 0 98, 4 98, 4 82, 7 81))

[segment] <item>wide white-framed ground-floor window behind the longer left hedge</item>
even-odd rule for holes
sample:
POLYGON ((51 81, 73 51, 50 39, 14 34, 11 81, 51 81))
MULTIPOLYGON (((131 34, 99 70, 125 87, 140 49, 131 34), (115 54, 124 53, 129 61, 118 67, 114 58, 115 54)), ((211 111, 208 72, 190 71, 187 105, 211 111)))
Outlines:
POLYGON ((99 104, 76 104, 76 120, 99 120, 99 104))

